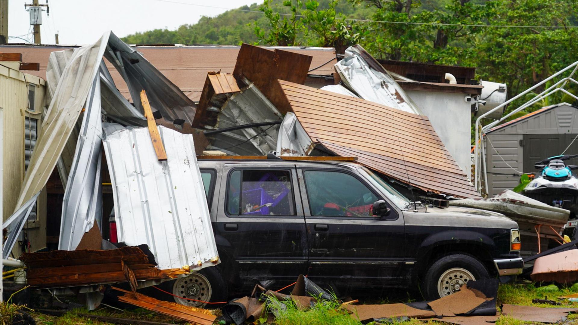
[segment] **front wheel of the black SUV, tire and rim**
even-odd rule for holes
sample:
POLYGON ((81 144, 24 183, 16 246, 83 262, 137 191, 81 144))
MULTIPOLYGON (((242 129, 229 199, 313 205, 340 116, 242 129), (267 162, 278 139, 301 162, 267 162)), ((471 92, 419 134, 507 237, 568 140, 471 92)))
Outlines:
POLYGON ((433 263, 425 273, 425 298, 435 300, 449 296, 469 281, 489 278, 488 270, 475 257, 466 254, 446 255, 433 263))

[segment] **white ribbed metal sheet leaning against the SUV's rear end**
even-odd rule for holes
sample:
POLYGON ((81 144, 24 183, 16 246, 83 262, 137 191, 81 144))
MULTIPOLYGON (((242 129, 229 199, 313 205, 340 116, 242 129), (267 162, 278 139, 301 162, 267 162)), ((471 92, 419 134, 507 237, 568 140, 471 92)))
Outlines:
POLYGON ((167 161, 158 161, 148 128, 103 124, 118 241, 147 244, 160 269, 218 263, 192 135, 158 127, 167 161))

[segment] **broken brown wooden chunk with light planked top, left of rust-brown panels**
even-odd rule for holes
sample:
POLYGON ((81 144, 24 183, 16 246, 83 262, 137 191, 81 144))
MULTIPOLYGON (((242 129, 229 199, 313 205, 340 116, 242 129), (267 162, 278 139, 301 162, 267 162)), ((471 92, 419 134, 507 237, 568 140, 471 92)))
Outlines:
POLYGON ((203 93, 199 99, 197 113, 192 120, 193 127, 203 127, 217 123, 219 109, 209 108, 216 105, 223 106, 227 100, 226 94, 239 93, 241 90, 231 73, 209 72, 203 86, 203 93))

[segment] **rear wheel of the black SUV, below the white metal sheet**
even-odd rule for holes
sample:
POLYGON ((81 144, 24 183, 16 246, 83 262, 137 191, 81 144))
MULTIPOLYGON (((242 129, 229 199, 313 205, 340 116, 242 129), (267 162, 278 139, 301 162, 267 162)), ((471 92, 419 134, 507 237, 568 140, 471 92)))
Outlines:
POLYGON ((228 298, 227 283, 216 267, 203 268, 191 275, 161 283, 160 287, 173 294, 161 293, 164 300, 185 306, 203 307, 206 304, 202 301, 221 302, 228 298))

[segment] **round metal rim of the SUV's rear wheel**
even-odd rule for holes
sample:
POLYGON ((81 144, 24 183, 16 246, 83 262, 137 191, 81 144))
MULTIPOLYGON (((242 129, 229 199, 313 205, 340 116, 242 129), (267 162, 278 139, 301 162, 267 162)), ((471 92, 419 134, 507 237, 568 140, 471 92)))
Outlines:
POLYGON ((173 284, 173 298, 175 302, 185 306, 202 307, 206 304, 200 301, 192 301, 188 299, 210 301, 211 299, 211 285, 209 280, 202 274, 195 272, 189 276, 184 276, 175 280, 173 284))

